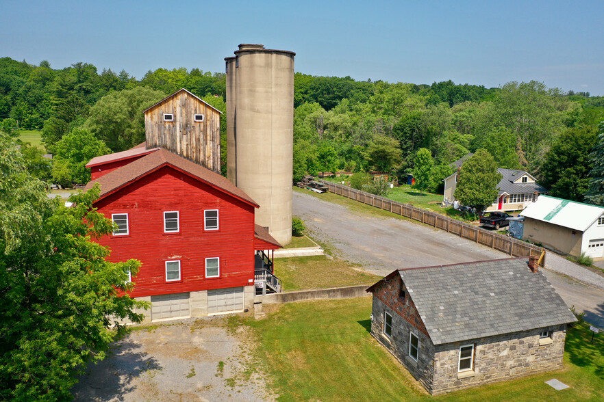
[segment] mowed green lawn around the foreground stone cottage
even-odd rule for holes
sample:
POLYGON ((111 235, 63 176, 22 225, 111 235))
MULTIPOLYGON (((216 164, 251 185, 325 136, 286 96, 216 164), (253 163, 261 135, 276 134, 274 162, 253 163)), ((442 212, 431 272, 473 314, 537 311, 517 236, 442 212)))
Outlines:
MULTIPOLYGON (((569 329, 564 370, 431 397, 369 334, 371 298, 268 305, 249 325, 280 401, 603 401, 603 336, 569 329), (570 386, 556 391, 544 381, 570 386)), ((602 335, 602 334, 599 334, 602 335)))

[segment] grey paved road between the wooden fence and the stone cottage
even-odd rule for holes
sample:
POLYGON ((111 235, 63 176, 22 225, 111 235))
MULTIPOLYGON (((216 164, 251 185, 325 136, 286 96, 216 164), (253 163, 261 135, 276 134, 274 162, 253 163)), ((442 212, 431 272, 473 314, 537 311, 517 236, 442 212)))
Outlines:
MULTIPOLYGON (((360 263, 378 275, 400 268, 509 257, 442 230, 402 219, 355 213, 298 191, 294 191, 293 213, 303 219, 316 239, 331 245, 335 254, 351 263, 360 263)), ((566 265, 559 260, 555 263, 557 269, 564 272, 566 265)), ((577 272, 581 274, 586 271, 572 265, 579 268, 577 272)), ((588 320, 604 328, 604 290, 586 286, 553 270, 545 269, 544 274, 569 306, 585 311, 588 320)))

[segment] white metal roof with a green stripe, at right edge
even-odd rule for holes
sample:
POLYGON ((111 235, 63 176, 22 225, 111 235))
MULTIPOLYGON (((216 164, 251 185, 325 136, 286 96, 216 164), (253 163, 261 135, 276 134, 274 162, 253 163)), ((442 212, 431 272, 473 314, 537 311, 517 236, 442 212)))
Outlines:
POLYGON ((585 232, 604 214, 604 207, 562 198, 540 196, 520 213, 524 217, 585 232))

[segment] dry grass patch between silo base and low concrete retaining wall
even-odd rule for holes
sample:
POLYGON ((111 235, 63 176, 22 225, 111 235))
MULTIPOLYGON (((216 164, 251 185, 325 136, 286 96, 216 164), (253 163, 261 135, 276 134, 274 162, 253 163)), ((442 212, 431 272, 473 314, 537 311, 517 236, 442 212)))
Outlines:
POLYGON ((366 273, 340 258, 304 256, 275 258, 275 275, 284 291, 373 284, 381 276, 366 273))

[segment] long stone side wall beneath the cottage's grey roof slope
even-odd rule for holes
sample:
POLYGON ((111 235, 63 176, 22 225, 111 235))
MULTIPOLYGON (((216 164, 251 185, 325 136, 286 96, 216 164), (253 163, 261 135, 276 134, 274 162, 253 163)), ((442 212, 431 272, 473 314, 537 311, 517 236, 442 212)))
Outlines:
POLYGON ((562 369, 566 324, 436 345, 432 394, 562 369), (552 331, 540 340, 540 332, 552 331), (475 345, 473 371, 457 373, 460 347, 475 345))

